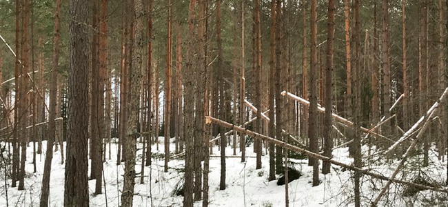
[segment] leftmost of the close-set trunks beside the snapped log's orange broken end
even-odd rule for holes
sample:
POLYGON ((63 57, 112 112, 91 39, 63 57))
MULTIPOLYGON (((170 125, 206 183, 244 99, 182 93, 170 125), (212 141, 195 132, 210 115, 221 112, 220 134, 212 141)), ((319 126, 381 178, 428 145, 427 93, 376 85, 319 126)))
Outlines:
POLYGON ((189 1, 188 5, 188 44, 186 70, 183 70, 184 77, 184 123, 185 123, 185 190, 183 206, 193 206, 194 190, 194 45, 196 43, 196 31, 194 22, 196 21, 196 0, 189 1))

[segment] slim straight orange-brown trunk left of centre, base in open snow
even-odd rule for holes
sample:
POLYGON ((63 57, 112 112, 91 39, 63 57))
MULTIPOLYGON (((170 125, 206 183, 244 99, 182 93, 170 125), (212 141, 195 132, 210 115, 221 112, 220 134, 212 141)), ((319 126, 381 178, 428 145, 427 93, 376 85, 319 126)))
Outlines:
POLYGON ((167 57, 166 57, 166 70, 165 70, 165 165, 164 172, 168 172, 168 161, 170 160, 170 118, 171 118, 171 98, 172 98, 172 3, 171 0, 167 1, 168 19, 167 19, 167 57))

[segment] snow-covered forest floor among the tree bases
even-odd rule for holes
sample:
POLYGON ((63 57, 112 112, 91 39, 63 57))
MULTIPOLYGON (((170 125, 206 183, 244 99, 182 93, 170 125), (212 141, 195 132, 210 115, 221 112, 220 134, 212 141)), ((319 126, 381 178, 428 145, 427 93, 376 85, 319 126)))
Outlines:
MULTIPOLYGON (((163 137, 159 137, 160 140, 163 137)), ((163 141, 159 149, 163 150, 163 141)), ((4 143, 2 143, 2 146, 4 143)), ((45 141, 43 142, 45 152, 45 141)), ((174 144, 172 149, 174 149, 174 144)), ((65 144, 64 144, 65 146, 65 144)), ((237 150, 238 152, 239 150, 237 150)), ((153 155, 158 151, 152 146, 153 155)), ((215 147, 214 155, 219 155, 215 147)), ((367 148, 363 148, 367 156, 367 148)), ((27 151, 25 179, 26 190, 10 188, 10 179, 5 179, 5 168, 0 165, 0 206, 39 206, 41 181, 43 175, 44 154, 37 155, 37 172, 32 173, 32 145, 27 151), (7 202, 8 201, 8 202, 7 202)), ((106 152, 106 157, 108 158, 106 152)), ((138 150, 141 153, 141 150, 138 150)), ((233 149, 226 148, 226 155, 232 155, 233 149)), ((239 153, 239 152, 238 152, 239 153)), ((447 175, 447 163, 439 161, 436 152, 430 151, 429 167, 422 168, 422 158, 411 157, 396 179, 407 181, 427 181, 431 185, 443 185, 447 175)), ((3 156, 6 152, 3 152, 3 156)), ((116 144, 112 144, 112 159, 104 163, 105 188, 103 194, 93 195, 95 181, 89 181, 90 206, 119 206, 123 187, 124 164, 116 165, 116 144)), ((277 186, 274 181, 267 181, 269 175, 269 157, 263 156, 263 168, 255 170, 253 147, 247 147, 247 162, 241 163, 241 158, 226 159, 225 190, 218 190, 220 180, 220 158, 210 158, 210 206, 285 206, 285 186, 277 186)), ((348 156, 348 148, 339 148, 333 152, 334 159, 346 164, 352 164, 348 156)), ((364 159, 365 168, 372 172, 389 177, 398 165, 399 159, 364 159)), ((354 206, 354 173, 339 166, 332 166, 328 175, 320 174, 320 185, 312 187, 312 167, 307 165, 307 159, 290 159, 292 167, 301 172, 302 176, 289 183, 289 206, 354 206)), ((163 172, 163 159, 154 156, 152 166, 145 167, 145 184, 140 184, 136 178, 134 206, 182 206, 183 197, 174 195, 174 190, 183 184, 182 157, 170 161, 170 169, 163 172), (150 179, 151 177, 151 179, 150 179)), ((320 167, 322 163, 320 163, 320 167)), ((141 172, 141 155, 137 155, 136 172, 141 172)), ((279 175, 277 178, 280 177, 279 175)), ((370 206, 386 181, 374 179, 367 175, 361 178, 361 206, 370 206)), ((18 182, 17 182, 18 184, 18 182)), ((64 165, 61 165, 61 151, 54 152, 50 180, 50 206, 63 206, 64 165)), ((444 193, 431 190, 406 189, 400 184, 392 184, 378 206, 446 206, 447 196, 444 193), (407 197, 404 194, 409 194, 407 197)), ((202 206, 197 201, 194 206, 202 206)))

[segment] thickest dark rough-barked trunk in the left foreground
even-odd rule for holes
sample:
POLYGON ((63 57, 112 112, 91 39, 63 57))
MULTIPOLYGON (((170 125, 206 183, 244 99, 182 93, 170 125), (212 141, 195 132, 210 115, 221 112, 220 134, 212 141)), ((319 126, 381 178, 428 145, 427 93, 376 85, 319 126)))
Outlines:
POLYGON ((64 206, 89 206, 87 1, 70 1, 68 137, 64 206))

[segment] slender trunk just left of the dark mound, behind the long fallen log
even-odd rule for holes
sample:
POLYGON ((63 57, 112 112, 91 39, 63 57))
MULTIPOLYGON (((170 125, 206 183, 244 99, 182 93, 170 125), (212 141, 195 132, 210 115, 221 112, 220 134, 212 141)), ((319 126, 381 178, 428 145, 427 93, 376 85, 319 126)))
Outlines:
MULTIPOLYGON (((276 1, 271 0, 271 33, 269 37, 270 50, 270 60, 269 60, 269 137, 275 137, 276 129, 274 125, 275 120, 275 103, 274 97, 276 96, 275 88, 275 50, 276 50, 276 1)), ((275 163, 275 145, 269 144, 269 181, 275 179, 276 174, 276 163, 275 163)))

